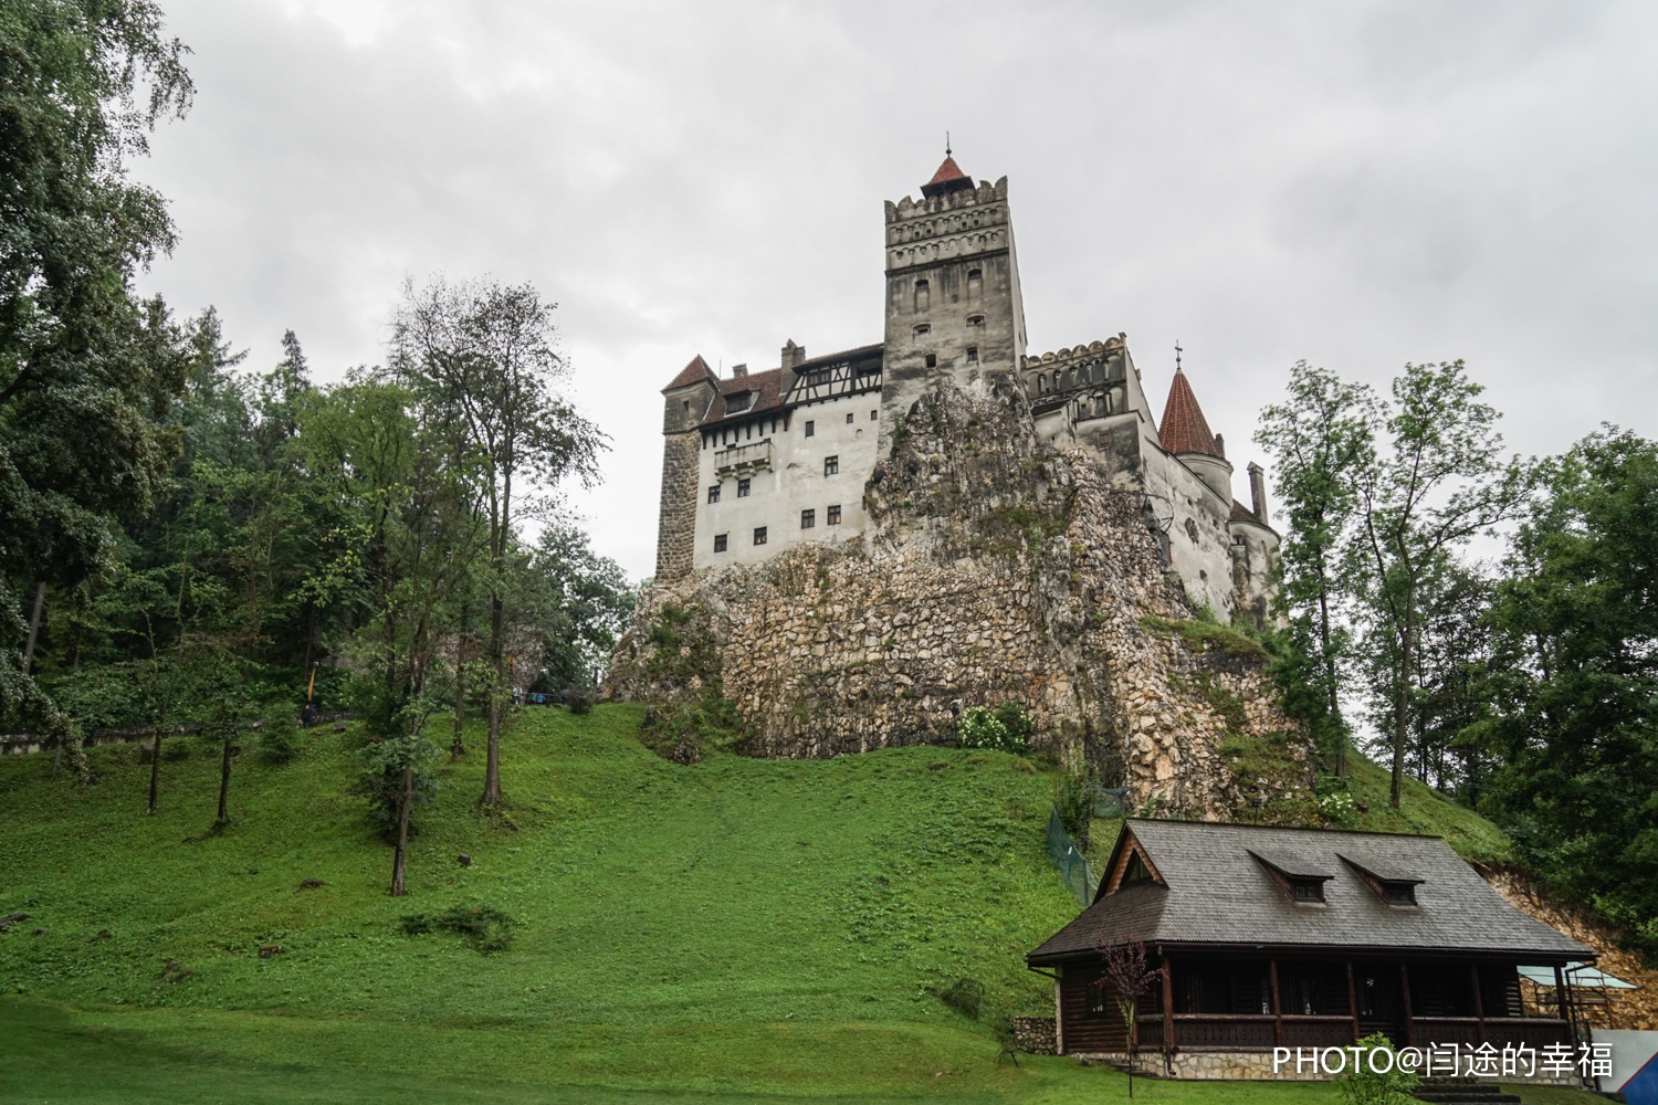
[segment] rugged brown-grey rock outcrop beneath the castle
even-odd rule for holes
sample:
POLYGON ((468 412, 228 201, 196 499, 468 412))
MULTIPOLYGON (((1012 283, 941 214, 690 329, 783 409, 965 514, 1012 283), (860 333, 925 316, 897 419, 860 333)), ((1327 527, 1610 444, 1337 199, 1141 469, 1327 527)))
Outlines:
POLYGON ((690 702, 718 671, 746 750, 774 757, 953 744, 963 709, 1011 699, 1038 747, 1086 757, 1136 805, 1260 815, 1310 790, 1258 648, 1182 633, 1194 610, 1142 497, 1081 451, 1038 446, 1013 378, 928 393, 894 441, 862 538, 652 588, 607 692, 690 702), (1257 746, 1288 777, 1239 777, 1257 746))

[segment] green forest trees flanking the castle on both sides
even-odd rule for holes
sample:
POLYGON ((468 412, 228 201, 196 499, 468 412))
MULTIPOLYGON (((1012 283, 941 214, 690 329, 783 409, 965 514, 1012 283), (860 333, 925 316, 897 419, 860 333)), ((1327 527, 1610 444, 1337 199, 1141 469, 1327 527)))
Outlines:
MULTIPOLYGON (((129 162, 191 106, 182 43, 146 0, 3 13, 0 727, 91 784, 91 729, 158 727, 159 764, 189 726, 219 749, 224 822, 244 746, 280 760, 307 706, 350 711, 396 893, 434 760, 482 755, 497 803, 514 689, 580 707, 632 610, 559 497, 600 479, 605 437, 565 393, 555 306, 411 280, 381 364, 320 373, 288 333, 247 366, 212 308, 136 292, 174 227, 129 162)), ((1482 396, 1461 361, 1386 396, 1292 369, 1257 434, 1277 669, 1326 800, 1361 746, 1394 802, 1416 775, 1477 808, 1658 951, 1658 446, 1605 426, 1504 456, 1482 396)))

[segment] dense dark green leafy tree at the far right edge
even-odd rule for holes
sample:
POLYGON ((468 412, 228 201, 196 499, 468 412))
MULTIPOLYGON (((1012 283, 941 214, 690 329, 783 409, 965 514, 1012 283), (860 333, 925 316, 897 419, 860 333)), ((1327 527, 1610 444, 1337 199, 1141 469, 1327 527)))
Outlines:
POLYGON ((1605 427, 1544 464, 1497 585, 1514 649, 1486 808, 1550 885, 1658 951, 1658 444, 1605 427))

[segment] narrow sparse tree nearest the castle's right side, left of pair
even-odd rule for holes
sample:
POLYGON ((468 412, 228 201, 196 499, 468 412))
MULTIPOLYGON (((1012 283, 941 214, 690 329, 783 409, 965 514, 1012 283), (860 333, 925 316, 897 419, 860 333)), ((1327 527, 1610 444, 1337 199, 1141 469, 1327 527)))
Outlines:
POLYGON ((1278 545, 1278 601, 1293 636, 1310 646, 1313 697, 1310 724, 1335 746, 1336 774, 1346 774, 1348 726, 1341 717, 1336 671, 1346 631, 1335 620, 1343 595, 1341 547, 1358 519, 1358 475, 1374 466, 1376 399, 1365 384, 1297 361, 1288 396, 1260 414, 1255 442, 1270 451, 1277 494, 1288 520, 1278 545))

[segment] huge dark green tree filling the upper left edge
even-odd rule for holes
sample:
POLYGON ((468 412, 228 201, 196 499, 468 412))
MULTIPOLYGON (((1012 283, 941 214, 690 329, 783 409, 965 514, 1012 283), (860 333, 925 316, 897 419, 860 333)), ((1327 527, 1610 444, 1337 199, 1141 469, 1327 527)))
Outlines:
MULTIPOLYGON (((148 0, 0 12, 0 633, 20 596, 108 573, 116 514, 149 507, 177 437, 181 335, 134 273, 172 245, 162 199, 126 179, 191 99, 186 50, 148 0)), ((8 646, 0 714, 71 727, 8 646)), ((76 749, 78 755, 78 749, 76 749)))

